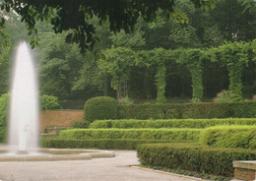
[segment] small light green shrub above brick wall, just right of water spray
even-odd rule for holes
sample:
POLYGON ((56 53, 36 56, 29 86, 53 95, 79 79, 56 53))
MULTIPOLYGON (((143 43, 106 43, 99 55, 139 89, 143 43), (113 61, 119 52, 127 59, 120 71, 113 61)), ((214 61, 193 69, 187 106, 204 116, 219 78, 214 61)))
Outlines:
POLYGON ((39 97, 40 99, 40 109, 50 110, 50 109, 60 109, 61 106, 58 102, 58 97, 53 95, 43 94, 39 97))

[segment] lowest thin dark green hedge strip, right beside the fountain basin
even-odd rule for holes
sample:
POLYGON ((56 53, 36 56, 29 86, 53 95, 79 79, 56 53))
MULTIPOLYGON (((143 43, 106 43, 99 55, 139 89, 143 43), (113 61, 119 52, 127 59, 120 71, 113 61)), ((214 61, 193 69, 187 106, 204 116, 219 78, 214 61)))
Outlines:
POLYGON ((41 139, 40 146, 55 149, 136 150, 140 144, 166 142, 169 143, 169 141, 138 139, 41 139))

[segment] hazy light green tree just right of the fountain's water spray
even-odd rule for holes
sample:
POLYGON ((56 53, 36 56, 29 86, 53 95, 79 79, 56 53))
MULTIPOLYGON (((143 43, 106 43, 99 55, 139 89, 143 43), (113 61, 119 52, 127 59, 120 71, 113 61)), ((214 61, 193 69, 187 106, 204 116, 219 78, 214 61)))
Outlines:
POLYGON ((64 34, 44 33, 37 55, 40 62, 40 93, 69 98, 83 65, 83 56, 76 45, 66 44, 64 34))

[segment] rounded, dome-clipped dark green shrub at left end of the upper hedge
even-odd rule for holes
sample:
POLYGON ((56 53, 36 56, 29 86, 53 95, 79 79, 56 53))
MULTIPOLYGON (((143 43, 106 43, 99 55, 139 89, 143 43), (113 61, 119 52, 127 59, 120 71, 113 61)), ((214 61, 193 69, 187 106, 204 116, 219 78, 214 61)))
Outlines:
POLYGON ((116 119, 118 104, 110 96, 96 96, 86 101, 84 111, 85 119, 89 122, 97 119, 116 119))

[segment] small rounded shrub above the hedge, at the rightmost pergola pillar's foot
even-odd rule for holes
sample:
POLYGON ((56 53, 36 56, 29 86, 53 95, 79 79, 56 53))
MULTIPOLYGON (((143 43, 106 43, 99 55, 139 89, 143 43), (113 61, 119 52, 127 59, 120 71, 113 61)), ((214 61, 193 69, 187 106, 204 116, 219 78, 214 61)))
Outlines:
POLYGON ((214 98, 214 102, 218 103, 230 103, 230 102, 237 102, 241 100, 241 96, 234 93, 233 91, 221 91, 219 92, 216 97, 214 98))

